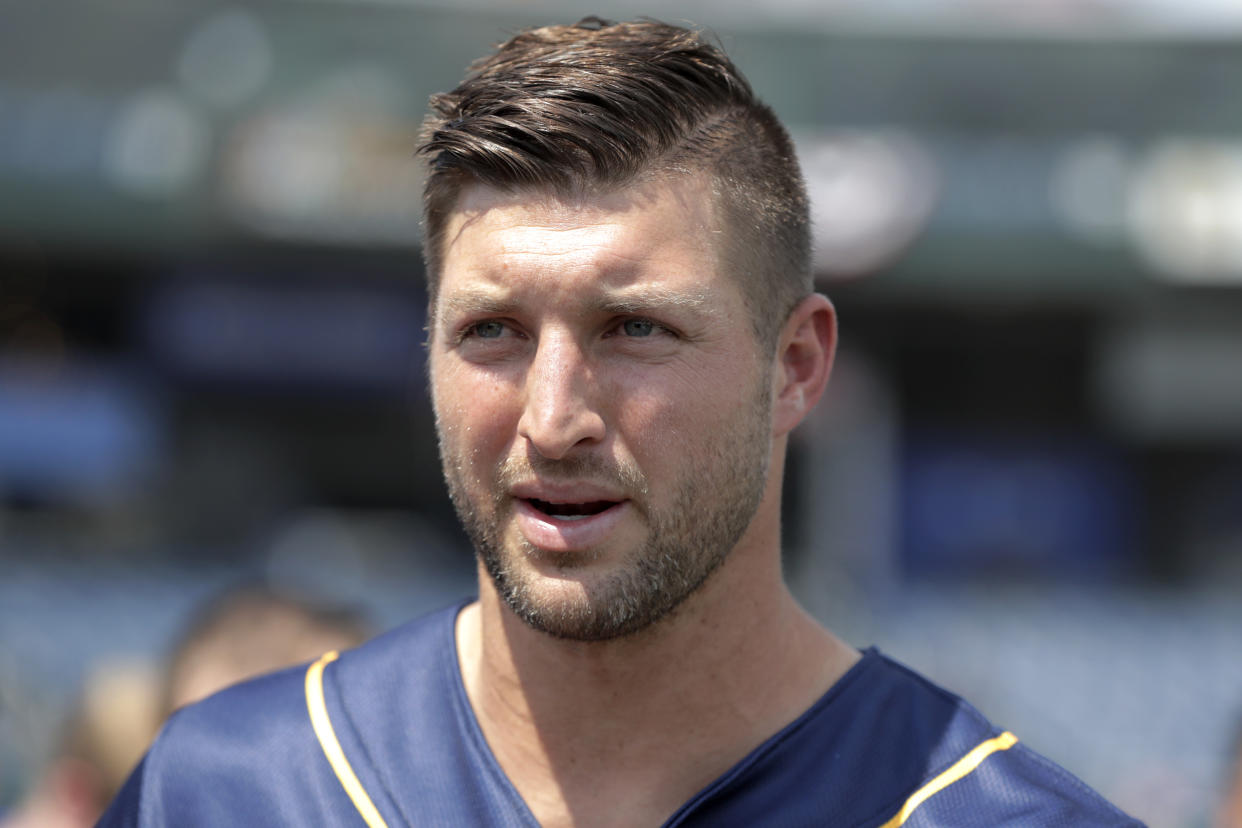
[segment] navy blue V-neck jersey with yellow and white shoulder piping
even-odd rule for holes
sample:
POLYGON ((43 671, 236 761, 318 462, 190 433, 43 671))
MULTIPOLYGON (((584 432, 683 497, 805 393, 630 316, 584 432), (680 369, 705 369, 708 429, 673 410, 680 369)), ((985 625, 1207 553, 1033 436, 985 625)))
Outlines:
MULTIPOLYGON (((457 610, 179 711, 99 824, 537 826, 471 711, 457 610)), ((869 649, 666 824, 1139 823, 869 649)))

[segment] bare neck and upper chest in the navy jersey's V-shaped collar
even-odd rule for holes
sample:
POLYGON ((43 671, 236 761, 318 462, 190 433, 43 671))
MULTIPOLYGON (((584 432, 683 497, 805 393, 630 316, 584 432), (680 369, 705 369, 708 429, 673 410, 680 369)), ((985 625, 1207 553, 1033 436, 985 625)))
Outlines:
POLYGON ((532 629, 483 576, 458 618, 462 675, 493 754, 544 826, 663 822, 857 660, 790 596, 779 523, 763 514, 691 598, 620 639, 532 629))

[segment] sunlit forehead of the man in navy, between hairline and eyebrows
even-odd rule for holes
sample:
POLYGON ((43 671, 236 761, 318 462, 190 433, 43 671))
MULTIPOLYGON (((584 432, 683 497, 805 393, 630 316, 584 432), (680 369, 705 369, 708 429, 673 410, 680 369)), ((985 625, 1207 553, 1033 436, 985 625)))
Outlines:
POLYGON ((720 269, 719 235, 705 176, 576 196, 473 185, 445 225, 440 293, 540 274, 566 289, 707 283, 720 269))

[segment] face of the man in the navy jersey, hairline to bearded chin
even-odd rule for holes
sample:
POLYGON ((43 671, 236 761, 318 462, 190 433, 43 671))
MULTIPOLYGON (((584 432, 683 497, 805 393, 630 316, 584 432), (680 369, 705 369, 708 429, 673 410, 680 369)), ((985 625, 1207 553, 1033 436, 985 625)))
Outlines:
POLYGON ((771 454, 770 366, 717 261, 707 182, 573 201, 466 190, 430 341, 445 477, 533 627, 647 627, 743 538, 771 454))

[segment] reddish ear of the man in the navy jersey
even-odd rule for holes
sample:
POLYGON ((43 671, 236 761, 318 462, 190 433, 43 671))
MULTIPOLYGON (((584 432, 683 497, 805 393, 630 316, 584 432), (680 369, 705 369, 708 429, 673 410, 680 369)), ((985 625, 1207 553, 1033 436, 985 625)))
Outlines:
POLYGON ((781 328, 773 372, 773 434, 802 422, 823 395, 837 350, 837 312, 822 293, 812 293, 781 328))

